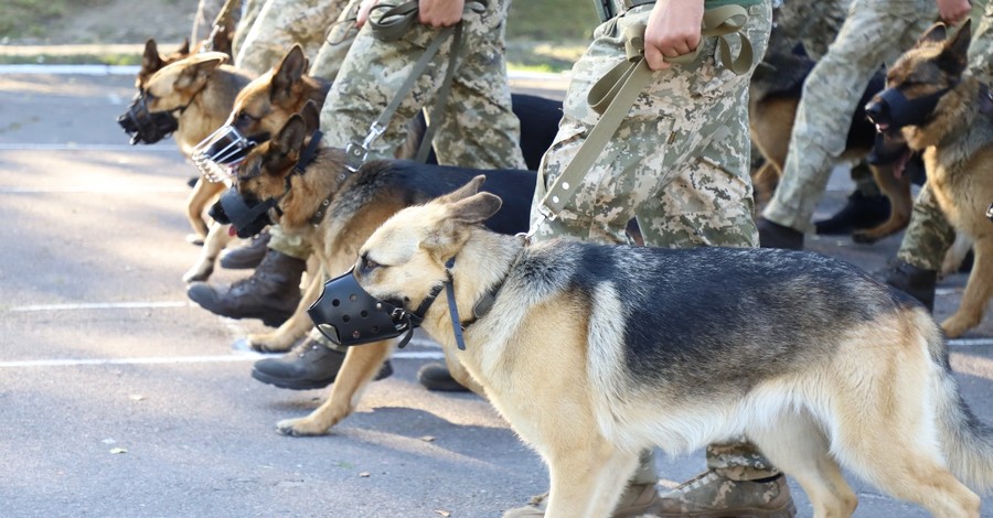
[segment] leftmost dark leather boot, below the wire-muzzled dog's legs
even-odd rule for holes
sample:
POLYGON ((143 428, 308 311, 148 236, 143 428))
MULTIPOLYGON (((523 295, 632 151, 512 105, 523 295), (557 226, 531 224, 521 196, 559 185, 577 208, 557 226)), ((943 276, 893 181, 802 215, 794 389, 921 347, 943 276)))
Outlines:
POLYGON ((306 267, 307 261, 270 249, 252 277, 218 287, 193 282, 186 288, 186 296, 221 316, 260 319, 276 327, 300 302, 300 277, 306 267))

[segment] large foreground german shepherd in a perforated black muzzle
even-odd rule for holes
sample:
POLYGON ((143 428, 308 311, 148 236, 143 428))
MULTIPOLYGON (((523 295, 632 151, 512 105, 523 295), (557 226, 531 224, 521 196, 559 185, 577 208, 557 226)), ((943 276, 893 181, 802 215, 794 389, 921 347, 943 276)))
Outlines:
POLYGON ((481 182, 397 213, 322 300, 357 309, 345 287, 370 311, 393 306, 386 319, 419 313, 453 375, 548 465, 545 516, 609 516, 640 451, 738 435, 815 516, 855 509, 840 465, 933 516, 980 516, 957 477, 993 486, 993 430, 962 401, 919 303, 814 252, 528 244, 482 227, 501 201, 481 182), (470 311, 490 296, 488 313, 470 311))

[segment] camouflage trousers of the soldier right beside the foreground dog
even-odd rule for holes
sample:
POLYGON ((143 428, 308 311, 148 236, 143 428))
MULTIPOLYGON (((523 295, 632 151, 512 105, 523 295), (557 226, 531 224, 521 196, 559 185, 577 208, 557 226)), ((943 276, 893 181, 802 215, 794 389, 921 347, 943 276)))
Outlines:
MULTIPOLYGON (((537 202, 583 145, 599 116, 587 105, 590 87, 624 58, 624 28, 645 23, 651 6, 634 8, 597 28, 594 42, 573 67, 564 116, 545 153, 532 205, 533 239, 630 242, 627 223, 637 217, 644 242, 656 247, 754 247, 748 164, 748 83, 717 65, 716 41, 701 43, 695 63, 656 72, 600 158, 591 164, 572 206, 555 220, 537 202)), ((771 8, 748 9, 746 33, 756 55, 765 53, 771 8)), ((737 54, 737 48, 733 51, 737 54)), ((707 465, 732 481, 778 474, 751 445, 711 445, 707 465)), ((651 455, 642 455, 636 485, 658 482, 651 455)), ((734 482, 730 482, 734 484, 734 482)))

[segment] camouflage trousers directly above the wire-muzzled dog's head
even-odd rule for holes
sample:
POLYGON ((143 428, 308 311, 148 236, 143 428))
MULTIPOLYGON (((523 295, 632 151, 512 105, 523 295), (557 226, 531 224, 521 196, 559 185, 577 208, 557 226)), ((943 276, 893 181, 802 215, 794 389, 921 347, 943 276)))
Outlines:
POLYGON ((266 0, 238 47, 235 66, 263 74, 295 43, 313 58, 344 7, 342 0, 266 0))

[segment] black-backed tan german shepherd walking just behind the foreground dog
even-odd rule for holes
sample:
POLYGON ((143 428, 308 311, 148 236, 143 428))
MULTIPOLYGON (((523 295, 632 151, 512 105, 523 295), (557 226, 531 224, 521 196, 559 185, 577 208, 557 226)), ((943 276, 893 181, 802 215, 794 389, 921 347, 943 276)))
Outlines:
MULTIPOLYGON (((351 173, 344 166, 344 151, 327 145, 318 148, 316 159, 302 173, 293 172, 317 125, 316 110, 305 109, 303 114, 290 118, 270 141, 249 152, 239 165, 237 188, 249 205, 277 198, 281 215, 274 214, 274 218, 312 245, 328 276, 348 270, 365 239, 397 211, 450 192, 479 174, 477 170, 406 160, 370 161, 351 173), (287 184, 290 190, 284 195, 287 184), (311 219, 319 211, 324 215, 314 225, 311 219)), ((490 228, 503 234, 525 231, 535 173, 496 170, 490 174, 488 188, 508 202, 488 222, 490 228)), ((297 312, 273 334, 278 344, 289 347, 313 327, 307 309, 323 287, 320 276, 314 277, 318 282, 309 284, 297 312)), ((281 422, 280 430, 290 434, 327 433, 352 412, 362 389, 393 348, 392 341, 383 341, 350 352, 324 403, 307 418, 281 422)))

